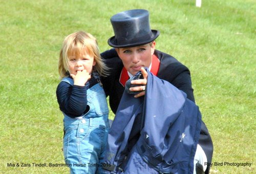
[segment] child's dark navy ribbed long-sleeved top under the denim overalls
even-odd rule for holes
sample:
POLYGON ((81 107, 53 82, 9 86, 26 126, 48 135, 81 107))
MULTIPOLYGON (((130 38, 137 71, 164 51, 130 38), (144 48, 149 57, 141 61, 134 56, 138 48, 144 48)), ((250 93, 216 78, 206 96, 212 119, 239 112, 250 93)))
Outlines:
POLYGON ((89 110, 87 106, 87 90, 96 83, 98 81, 93 76, 84 86, 72 86, 65 81, 61 81, 56 90, 60 111, 72 118, 87 113, 89 110))

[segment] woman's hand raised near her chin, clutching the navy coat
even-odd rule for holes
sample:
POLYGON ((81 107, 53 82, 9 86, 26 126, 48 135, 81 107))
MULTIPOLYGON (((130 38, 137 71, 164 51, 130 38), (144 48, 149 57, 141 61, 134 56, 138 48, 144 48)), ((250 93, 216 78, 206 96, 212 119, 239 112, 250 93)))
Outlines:
POLYGON ((145 95, 145 89, 146 89, 146 83, 147 83, 147 72, 143 67, 140 69, 140 71, 143 75, 143 79, 131 81, 131 84, 138 84, 139 86, 131 87, 130 91, 141 91, 139 94, 134 96, 135 98, 145 95))

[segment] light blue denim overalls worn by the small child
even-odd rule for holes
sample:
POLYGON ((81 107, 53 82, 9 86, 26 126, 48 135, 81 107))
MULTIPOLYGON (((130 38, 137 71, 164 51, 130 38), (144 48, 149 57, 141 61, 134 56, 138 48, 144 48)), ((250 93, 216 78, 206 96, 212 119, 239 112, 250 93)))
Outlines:
MULTIPOLYGON (((99 77, 94 76, 96 79, 99 77)), ((73 79, 63 78, 71 85, 73 79)), ((109 132, 109 108, 101 83, 87 90, 89 112, 71 118, 64 114, 63 153, 70 173, 101 173, 101 162, 109 132)), ((89 86, 89 83, 86 83, 89 86)))

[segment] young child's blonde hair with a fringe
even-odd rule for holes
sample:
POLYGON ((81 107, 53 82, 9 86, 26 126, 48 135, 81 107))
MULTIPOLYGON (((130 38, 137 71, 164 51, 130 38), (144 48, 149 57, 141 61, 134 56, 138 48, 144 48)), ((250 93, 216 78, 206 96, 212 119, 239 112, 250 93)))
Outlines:
POLYGON ((58 63, 60 78, 69 76, 69 57, 80 56, 84 49, 86 49, 86 54, 94 57, 96 64, 93 71, 97 71, 101 76, 107 75, 108 68, 100 57, 96 38, 90 33, 79 31, 68 35, 63 41, 58 63))

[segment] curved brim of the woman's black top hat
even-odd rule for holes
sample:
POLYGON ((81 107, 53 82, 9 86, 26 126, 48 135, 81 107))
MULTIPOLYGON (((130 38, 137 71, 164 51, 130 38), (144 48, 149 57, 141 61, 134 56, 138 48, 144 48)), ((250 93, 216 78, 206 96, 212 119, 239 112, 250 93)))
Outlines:
POLYGON ((138 40, 136 42, 134 41, 129 44, 118 45, 115 36, 112 36, 111 38, 109 38, 108 44, 113 48, 127 48, 127 47, 137 47, 137 46, 145 45, 145 44, 148 44, 148 43, 154 41, 160 34, 160 32, 158 30, 151 30, 151 31, 152 31, 153 36, 147 40, 141 40, 141 41, 138 40))

